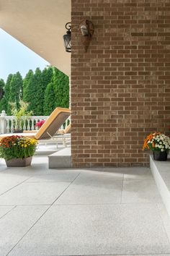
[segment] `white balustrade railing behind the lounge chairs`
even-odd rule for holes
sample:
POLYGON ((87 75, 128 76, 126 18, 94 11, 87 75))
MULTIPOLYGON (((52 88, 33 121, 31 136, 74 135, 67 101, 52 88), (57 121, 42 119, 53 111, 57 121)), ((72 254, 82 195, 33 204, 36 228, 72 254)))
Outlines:
MULTIPOLYGON (((5 111, 1 111, 0 114, 0 134, 5 133, 12 133, 14 129, 21 129, 21 130, 35 130, 35 124, 37 121, 47 120, 48 116, 21 116, 20 120, 17 121, 15 116, 6 116, 5 111), (17 125, 19 123, 19 125, 17 125), (19 127, 17 127, 19 126, 19 127)), ((64 129, 70 124, 71 118, 70 116, 66 120, 66 123, 62 125, 61 129, 64 129)))

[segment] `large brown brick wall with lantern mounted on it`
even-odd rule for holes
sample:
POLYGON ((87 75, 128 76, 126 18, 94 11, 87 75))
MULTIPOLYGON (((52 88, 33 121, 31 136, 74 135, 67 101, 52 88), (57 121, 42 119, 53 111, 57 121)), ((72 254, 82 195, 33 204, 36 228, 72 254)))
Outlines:
POLYGON ((71 15, 73 166, 146 166, 144 137, 170 125, 170 2, 72 0, 71 15))

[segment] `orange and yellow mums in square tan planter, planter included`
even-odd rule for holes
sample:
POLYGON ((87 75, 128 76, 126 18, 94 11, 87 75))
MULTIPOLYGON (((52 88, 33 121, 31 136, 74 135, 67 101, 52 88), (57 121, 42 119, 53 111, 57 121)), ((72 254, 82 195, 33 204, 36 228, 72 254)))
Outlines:
POLYGON ((0 141, 0 157, 8 167, 30 166, 37 140, 24 136, 8 136, 0 141))

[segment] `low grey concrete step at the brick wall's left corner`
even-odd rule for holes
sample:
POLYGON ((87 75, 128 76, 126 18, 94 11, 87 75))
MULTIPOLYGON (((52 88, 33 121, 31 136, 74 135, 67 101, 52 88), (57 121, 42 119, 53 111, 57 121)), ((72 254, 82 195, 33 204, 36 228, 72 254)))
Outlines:
POLYGON ((49 168, 71 168, 71 148, 63 148, 48 155, 49 168))

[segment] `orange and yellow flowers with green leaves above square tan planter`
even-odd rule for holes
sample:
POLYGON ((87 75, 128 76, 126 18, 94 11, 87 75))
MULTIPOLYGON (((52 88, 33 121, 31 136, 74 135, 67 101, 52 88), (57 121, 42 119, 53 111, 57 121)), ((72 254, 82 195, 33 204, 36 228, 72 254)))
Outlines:
POLYGON ((37 140, 23 136, 4 137, 0 142, 0 157, 6 160, 34 155, 37 140))

